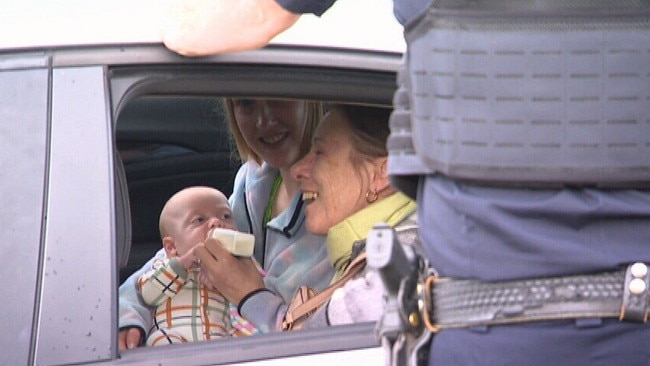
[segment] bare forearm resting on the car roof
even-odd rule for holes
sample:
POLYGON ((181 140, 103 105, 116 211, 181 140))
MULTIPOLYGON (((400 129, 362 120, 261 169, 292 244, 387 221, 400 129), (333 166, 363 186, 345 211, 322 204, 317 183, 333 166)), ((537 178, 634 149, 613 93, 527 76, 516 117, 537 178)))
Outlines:
POLYGON ((169 0, 167 5, 162 41, 186 56, 262 47, 300 17, 275 0, 169 0))

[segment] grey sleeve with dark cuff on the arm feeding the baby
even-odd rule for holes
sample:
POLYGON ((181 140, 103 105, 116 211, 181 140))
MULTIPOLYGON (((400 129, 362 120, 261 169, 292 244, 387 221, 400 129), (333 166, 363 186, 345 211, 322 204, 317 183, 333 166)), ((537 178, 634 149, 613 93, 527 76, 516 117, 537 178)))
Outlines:
POLYGON ((287 305, 281 296, 271 291, 260 291, 248 297, 240 305, 240 314, 263 333, 275 332, 281 328, 287 305))

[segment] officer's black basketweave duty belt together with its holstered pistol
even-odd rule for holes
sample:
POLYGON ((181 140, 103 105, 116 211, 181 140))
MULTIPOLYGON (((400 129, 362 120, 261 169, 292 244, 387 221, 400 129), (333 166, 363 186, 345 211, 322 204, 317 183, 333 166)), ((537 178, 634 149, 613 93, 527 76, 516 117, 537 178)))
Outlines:
POLYGON ((500 282, 444 278, 382 224, 369 233, 366 255, 387 291, 376 331, 389 365, 426 364, 431 337, 448 329, 583 318, 647 324, 650 314, 649 263, 500 282))

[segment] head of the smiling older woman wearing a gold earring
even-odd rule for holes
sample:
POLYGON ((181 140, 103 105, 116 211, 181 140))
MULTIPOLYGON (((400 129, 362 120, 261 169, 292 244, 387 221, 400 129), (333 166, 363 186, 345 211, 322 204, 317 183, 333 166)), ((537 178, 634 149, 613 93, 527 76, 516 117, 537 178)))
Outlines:
POLYGON ((335 106, 320 123, 310 152, 291 173, 300 182, 307 229, 328 230, 370 203, 390 196, 386 172, 390 109, 335 106))

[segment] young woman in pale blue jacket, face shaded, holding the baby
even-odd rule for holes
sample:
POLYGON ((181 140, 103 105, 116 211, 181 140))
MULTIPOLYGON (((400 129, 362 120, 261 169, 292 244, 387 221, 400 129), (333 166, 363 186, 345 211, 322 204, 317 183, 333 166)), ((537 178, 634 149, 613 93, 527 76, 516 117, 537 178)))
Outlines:
MULTIPOLYGON (((289 174, 291 165, 309 149, 322 106, 266 99, 227 99, 225 103, 244 162, 230 203, 238 228, 255 235, 255 254, 267 273, 263 284, 287 301, 305 282, 317 289, 326 287, 333 271, 322 245, 324 237, 306 231, 298 183, 289 174)), ((136 289, 136 279, 150 267, 145 264, 120 286, 121 350, 138 347, 151 328, 151 309, 141 302, 136 289)))

